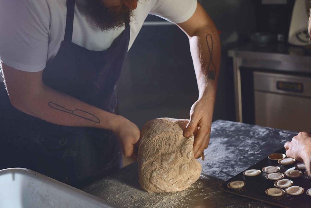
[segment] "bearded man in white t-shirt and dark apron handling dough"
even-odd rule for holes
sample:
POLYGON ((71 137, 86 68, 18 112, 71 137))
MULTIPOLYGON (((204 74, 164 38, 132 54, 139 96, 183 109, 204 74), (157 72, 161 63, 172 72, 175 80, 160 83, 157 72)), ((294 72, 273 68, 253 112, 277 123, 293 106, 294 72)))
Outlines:
POLYGON ((220 65, 217 29, 197 0, 0 0, 0 169, 75 187, 137 157, 140 130, 116 115, 116 85, 148 14, 189 37, 199 98, 184 136, 207 148, 220 65))

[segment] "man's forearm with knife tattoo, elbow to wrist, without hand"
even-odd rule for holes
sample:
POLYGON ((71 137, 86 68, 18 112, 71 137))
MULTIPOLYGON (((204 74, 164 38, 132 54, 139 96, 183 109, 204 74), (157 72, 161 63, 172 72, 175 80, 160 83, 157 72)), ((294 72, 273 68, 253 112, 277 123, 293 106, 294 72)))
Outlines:
MULTIPOLYGON (((16 102, 17 103, 17 102, 16 102)), ((106 112, 44 85, 38 94, 14 106, 26 114, 64 126, 114 130, 119 116, 106 112)))

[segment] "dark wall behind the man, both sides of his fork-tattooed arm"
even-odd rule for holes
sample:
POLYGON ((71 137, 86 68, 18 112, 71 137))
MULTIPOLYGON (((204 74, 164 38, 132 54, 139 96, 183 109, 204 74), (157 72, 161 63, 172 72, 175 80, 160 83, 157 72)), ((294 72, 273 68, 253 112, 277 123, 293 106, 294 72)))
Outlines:
MULTIPOLYGON (((233 68, 227 50, 247 42, 254 31, 254 4, 249 0, 217 0, 203 1, 202 6, 221 31, 222 60, 213 120, 235 120, 233 68)), ((120 78, 120 114, 138 127, 159 117, 189 119, 197 97, 187 36, 174 25, 143 26, 120 78)))

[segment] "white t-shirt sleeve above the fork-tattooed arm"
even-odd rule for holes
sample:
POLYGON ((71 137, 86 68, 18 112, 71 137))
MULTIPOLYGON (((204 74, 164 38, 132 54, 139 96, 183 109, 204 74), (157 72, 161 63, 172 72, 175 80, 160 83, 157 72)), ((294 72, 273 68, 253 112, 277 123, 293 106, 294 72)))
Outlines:
POLYGON ((197 0, 156 0, 150 14, 169 22, 182 23, 192 17, 196 8, 197 0))

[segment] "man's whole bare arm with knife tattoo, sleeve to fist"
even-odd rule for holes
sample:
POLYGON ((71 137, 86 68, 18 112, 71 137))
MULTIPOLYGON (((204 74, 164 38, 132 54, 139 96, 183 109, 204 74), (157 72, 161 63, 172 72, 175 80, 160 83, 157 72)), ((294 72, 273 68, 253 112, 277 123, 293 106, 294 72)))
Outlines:
POLYGON ((26 72, 2 63, 2 72, 10 101, 15 108, 50 123, 112 130, 124 155, 137 157, 134 146, 138 145, 140 130, 128 119, 44 85, 43 71, 26 72))

